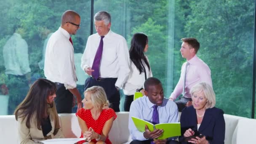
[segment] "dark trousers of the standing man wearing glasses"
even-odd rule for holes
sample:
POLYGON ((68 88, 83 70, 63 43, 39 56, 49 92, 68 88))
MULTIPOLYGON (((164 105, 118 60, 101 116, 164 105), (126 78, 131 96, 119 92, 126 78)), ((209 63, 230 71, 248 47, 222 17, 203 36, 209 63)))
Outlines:
POLYGON ((58 113, 72 113, 73 94, 66 90, 63 83, 55 83, 57 87, 54 102, 58 113))

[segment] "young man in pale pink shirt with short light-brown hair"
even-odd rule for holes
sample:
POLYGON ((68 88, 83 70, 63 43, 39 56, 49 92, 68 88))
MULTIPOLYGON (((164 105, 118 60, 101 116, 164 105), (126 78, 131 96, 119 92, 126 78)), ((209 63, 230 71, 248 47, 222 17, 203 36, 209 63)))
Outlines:
POLYGON ((189 93, 192 86, 200 82, 205 82, 212 86, 210 68, 196 55, 200 48, 200 43, 193 37, 186 37, 181 40, 183 41, 180 49, 181 56, 187 59, 187 61, 182 64, 179 82, 169 97, 171 101, 174 101, 182 94, 179 100, 175 101, 179 112, 184 107, 192 105, 192 99, 189 93))

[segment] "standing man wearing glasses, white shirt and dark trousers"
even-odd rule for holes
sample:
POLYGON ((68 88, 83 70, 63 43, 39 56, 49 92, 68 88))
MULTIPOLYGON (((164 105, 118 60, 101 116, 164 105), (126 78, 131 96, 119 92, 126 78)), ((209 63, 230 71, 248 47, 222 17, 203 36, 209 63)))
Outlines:
POLYGON ((51 35, 45 51, 44 73, 48 80, 56 83, 55 98, 58 113, 72 113, 77 98, 77 110, 82 107, 82 99, 77 90, 74 47, 70 35, 80 29, 80 16, 75 11, 65 11, 61 16, 61 27, 51 35))

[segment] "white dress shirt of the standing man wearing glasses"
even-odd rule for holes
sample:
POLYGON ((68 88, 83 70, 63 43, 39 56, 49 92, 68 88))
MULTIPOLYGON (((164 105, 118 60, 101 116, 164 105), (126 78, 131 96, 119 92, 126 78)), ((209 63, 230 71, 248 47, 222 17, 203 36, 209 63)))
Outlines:
POLYGON ((66 88, 76 88, 74 48, 69 33, 59 27, 48 40, 45 52, 45 77, 63 83, 66 88))

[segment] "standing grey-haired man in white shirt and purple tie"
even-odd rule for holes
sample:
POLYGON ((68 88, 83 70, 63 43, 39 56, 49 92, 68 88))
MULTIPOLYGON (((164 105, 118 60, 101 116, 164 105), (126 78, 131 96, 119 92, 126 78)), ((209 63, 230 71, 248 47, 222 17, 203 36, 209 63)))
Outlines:
POLYGON ((107 11, 95 14, 94 26, 97 33, 88 37, 81 58, 81 68, 90 76, 85 80, 85 90, 94 85, 103 87, 110 107, 119 112, 119 89, 130 72, 127 42, 111 31, 111 16, 107 11))

